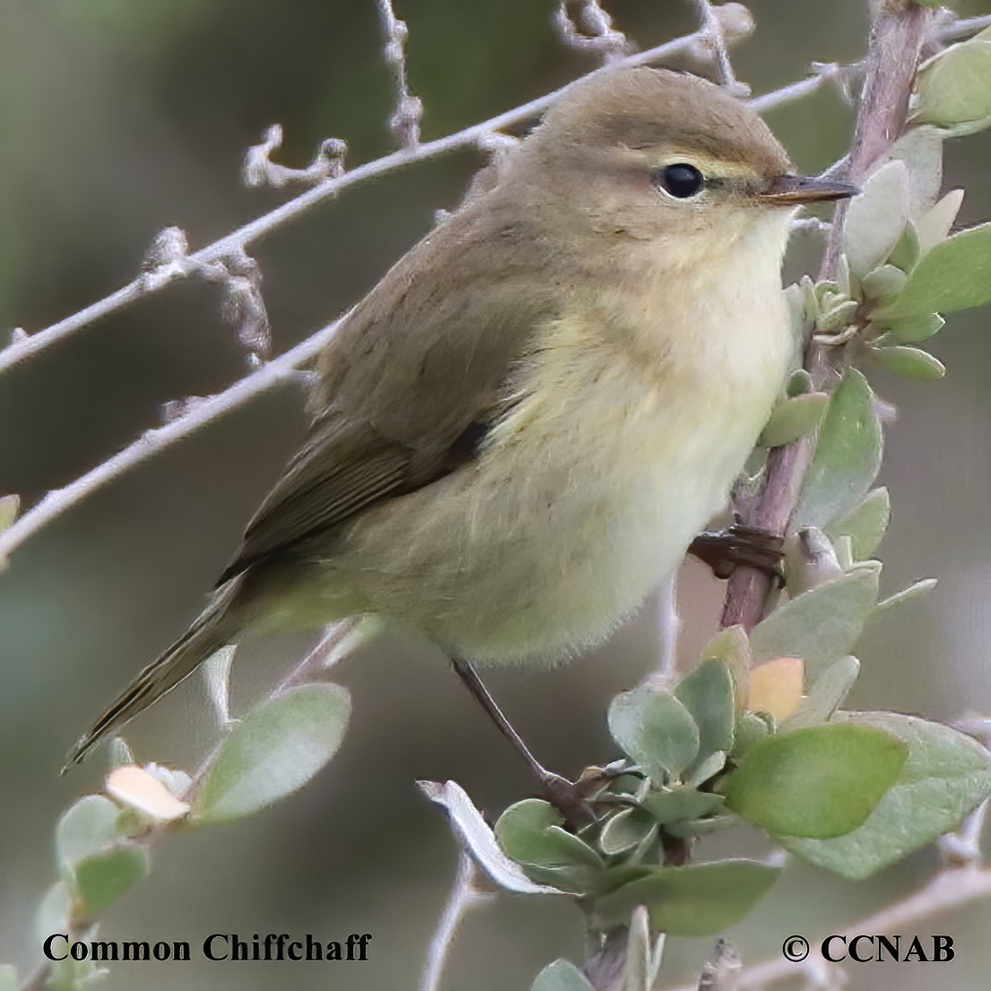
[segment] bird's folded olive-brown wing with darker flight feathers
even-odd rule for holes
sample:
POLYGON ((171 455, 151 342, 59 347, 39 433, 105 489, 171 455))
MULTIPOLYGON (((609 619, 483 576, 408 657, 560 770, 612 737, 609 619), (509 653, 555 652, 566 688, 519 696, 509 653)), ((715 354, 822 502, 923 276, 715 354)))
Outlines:
POLYGON ((385 275, 321 355, 309 434, 218 584, 475 456, 558 315, 544 249, 496 210, 459 213, 385 275))

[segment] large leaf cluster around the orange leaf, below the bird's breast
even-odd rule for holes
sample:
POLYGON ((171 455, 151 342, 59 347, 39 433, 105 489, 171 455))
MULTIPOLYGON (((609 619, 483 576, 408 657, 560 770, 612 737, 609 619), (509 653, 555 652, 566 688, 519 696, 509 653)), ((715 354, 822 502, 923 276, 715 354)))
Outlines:
MULTIPOLYGON (((742 919, 779 868, 687 862, 716 829, 760 826, 796 855, 860 879, 958 826, 991 792, 988 755, 969 737, 913 716, 839 709, 866 623, 935 584, 879 601, 881 565, 870 555, 890 502, 872 488, 878 405, 852 369, 822 403, 793 517, 787 601, 749 637, 739 627, 717 634, 672 689, 648 677, 612 700, 609 731, 627 759, 592 800, 596 821, 575 829, 530 799, 496 824, 504 853, 533 881, 576 896, 594 928, 628 925, 637 906, 654 930, 679 936, 742 919)), ((559 983, 575 980, 563 971, 559 983)))

